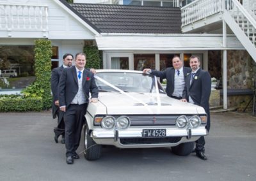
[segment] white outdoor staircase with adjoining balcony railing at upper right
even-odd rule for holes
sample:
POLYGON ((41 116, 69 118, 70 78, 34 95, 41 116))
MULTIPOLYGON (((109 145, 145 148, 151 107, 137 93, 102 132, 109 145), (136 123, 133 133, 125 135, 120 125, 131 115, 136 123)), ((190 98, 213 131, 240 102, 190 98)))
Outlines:
POLYGON ((195 32, 195 28, 221 23, 223 19, 256 62, 256 1, 244 2, 243 6, 238 0, 193 1, 181 8, 182 31, 195 32))

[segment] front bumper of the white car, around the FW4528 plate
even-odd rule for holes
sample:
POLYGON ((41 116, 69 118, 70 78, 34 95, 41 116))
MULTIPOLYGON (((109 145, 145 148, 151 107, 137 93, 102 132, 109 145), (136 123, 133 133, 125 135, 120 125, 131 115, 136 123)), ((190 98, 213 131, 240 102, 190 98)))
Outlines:
MULTIPOLYGON (((143 129, 152 129, 152 127, 143 127, 143 129)), ((102 128, 95 128, 91 132, 90 136, 93 138, 95 143, 99 145, 115 145, 118 148, 153 148, 153 147, 174 147, 180 143, 186 143, 191 141, 196 141, 200 136, 206 136, 208 134, 204 126, 198 127, 196 129, 191 129, 190 135, 188 129, 179 129, 176 127, 166 128, 166 127, 154 127, 154 129, 166 129, 166 136, 154 137, 154 138, 144 138, 142 136, 142 128, 129 128, 127 130, 106 130, 102 128), (129 139, 131 138, 131 139, 129 139), (157 140, 166 138, 180 138, 170 142, 157 142, 157 140), (124 143, 125 139, 133 140, 132 143, 124 143), (154 139, 152 143, 140 143, 143 139, 154 139), (140 140, 136 142, 136 140, 140 140)))

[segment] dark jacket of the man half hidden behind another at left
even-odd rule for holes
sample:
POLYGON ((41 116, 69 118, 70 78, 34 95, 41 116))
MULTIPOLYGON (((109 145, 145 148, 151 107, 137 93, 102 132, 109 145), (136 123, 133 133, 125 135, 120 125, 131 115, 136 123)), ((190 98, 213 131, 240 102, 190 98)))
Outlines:
MULTIPOLYGON (((58 114, 59 107, 55 105, 55 101, 58 100, 58 85, 60 82, 60 76, 63 71, 63 66, 52 69, 51 75, 51 89, 52 89, 52 117, 56 118, 58 114)), ((60 117, 60 116, 59 116, 60 117)), ((62 117, 61 117, 62 119, 62 117)))

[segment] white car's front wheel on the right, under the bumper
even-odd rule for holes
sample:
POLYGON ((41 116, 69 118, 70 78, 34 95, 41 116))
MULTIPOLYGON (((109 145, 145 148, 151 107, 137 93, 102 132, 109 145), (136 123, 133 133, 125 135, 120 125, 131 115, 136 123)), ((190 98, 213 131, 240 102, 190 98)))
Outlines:
POLYGON ((172 147, 173 154, 177 156, 188 156, 195 147, 195 142, 181 143, 176 147, 172 147))

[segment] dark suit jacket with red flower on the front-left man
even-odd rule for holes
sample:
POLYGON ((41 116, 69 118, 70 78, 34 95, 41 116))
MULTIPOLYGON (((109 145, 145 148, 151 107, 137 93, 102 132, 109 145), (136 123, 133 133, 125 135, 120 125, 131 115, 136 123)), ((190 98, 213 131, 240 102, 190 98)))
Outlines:
MULTIPOLYGON (((89 92, 91 92, 92 98, 98 98, 98 87, 95 83, 93 73, 84 69, 83 71, 83 91, 86 97, 86 103, 88 103, 89 92)), ((60 106, 68 106, 75 98, 78 92, 78 80, 76 73, 76 66, 63 69, 60 77, 60 83, 58 87, 58 99, 60 106)))

